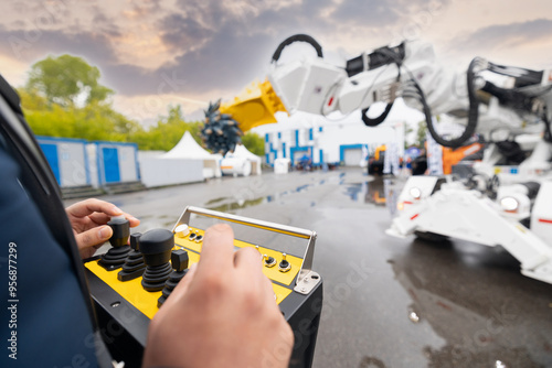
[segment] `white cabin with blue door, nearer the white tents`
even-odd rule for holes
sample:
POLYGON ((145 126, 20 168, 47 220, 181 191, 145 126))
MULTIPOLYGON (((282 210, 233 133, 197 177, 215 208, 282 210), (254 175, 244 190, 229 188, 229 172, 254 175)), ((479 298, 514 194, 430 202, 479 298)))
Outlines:
POLYGON ((108 186, 140 181, 136 143, 97 141, 88 144, 92 181, 108 186))

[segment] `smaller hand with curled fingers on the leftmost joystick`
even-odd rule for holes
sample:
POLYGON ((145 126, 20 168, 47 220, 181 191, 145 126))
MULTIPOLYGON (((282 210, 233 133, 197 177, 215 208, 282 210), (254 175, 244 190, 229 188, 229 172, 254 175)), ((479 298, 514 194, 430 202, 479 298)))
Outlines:
POLYGON ((124 215, 130 227, 140 225, 140 220, 124 213, 114 204, 105 201, 89 198, 77 202, 65 208, 81 258, 89 258, 113 235, 112 228, 106 225, 112 216, 124 215))

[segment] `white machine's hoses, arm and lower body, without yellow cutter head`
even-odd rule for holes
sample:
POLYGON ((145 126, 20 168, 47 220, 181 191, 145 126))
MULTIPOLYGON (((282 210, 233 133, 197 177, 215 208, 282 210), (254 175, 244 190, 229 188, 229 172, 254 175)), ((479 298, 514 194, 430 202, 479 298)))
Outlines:
POLYGON ((552 181, 546 180, 552 169, 552 71, 475 58, 467 72, 449 73, 436 62, 433 47, 417 41, 378 48, 340 68, 323 62, 314 40, 295 41, 309 42, 320 57, 276 64, 268 76, 288 111, 328 115, 362 109, 364 123, 372 127, 402 97, 425 113, 439 144, 458 148, 475 133, 488 143, 477 174, 465 182, 412 176, 388 234, 501 246, 521 262, 523 274, 552 283, 552 181), (370 119, 367 111, 376 101, 388 107, 370 119), (432 118, 436 115, 447 115, 453 122, 448 127, 456 131, 464 127, 459 137, 454 137, 455 129, 438 127, 432 118), (518 174, 493 175, 496 165, 505 163, 518 174), (533 182, 519 183, 520 178, 533 182))

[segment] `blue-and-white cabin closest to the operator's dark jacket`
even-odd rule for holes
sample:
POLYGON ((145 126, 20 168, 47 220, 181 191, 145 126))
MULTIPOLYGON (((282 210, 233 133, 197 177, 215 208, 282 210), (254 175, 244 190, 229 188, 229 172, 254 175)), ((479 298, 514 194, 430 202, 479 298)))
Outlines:
POLYGON ((36 137, 60 187, 91 186, 91 171, 84 139, 36 137))

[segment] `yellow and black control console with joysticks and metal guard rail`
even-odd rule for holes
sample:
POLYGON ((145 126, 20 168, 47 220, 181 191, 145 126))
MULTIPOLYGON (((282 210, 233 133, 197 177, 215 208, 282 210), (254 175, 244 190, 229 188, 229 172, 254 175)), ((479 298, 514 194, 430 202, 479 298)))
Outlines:
POLYGON ((105 256, 85 261, 100 331, 114 358, 128 366, 141 364, 150 320, 185 277, 189 267, 200 260, 204 229, 190 224, 191 215, 305 240, 302 256, 246 239, 234 240, 234 247, 252 247, 262 256, 263 272, 270 279, 276 303, 295 334, 289 366, 310 367, 322 306, 322 280, 312 270, 316 232, 192 206, 184 209, 172 230, 130 235, 128 248, 132 250, 124 261, 119 257, 109 267, 103 264, 105 256))

